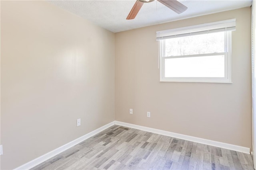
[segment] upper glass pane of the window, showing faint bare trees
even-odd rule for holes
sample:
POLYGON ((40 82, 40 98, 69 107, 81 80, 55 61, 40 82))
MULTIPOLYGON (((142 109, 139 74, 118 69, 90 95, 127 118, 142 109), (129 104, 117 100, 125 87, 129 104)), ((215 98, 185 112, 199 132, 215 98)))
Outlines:
POLYGON ((226 52, 225 32, 192 35, 165 40, 165 57, 224 52, 226 52))

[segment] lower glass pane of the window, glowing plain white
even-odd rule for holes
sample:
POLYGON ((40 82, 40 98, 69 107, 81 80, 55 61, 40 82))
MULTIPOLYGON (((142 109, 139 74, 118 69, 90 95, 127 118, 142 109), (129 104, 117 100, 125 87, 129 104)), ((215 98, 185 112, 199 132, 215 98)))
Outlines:
POLYGON ((165 77, 224 77, 224 55, 165 59, 165 77))

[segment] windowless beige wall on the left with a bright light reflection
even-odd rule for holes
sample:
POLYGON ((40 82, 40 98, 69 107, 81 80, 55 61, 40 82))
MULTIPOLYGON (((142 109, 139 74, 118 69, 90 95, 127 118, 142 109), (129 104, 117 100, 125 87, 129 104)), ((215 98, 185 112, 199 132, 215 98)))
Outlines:
POLYGON ((114 33, 45 1, 1 1, 1 88, 12 169, 114 121, 114 33))

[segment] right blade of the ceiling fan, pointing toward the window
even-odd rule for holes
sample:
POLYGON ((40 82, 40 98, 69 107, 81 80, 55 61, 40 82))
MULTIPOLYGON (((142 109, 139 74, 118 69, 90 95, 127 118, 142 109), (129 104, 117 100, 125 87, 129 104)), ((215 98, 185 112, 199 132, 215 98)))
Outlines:
POLYGON ((158 0, 177 14, 181 14, 182 12, 186 11, 188 7, 184 6, 182 3, 178 2, 177 0, 158 0))

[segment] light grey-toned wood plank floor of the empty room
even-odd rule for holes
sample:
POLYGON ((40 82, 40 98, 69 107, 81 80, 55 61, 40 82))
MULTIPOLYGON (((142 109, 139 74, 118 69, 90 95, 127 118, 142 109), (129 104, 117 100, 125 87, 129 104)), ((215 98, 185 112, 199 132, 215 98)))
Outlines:
POLYGON ((254 170, 250 154, 118 125, 32 169, 254 170))

